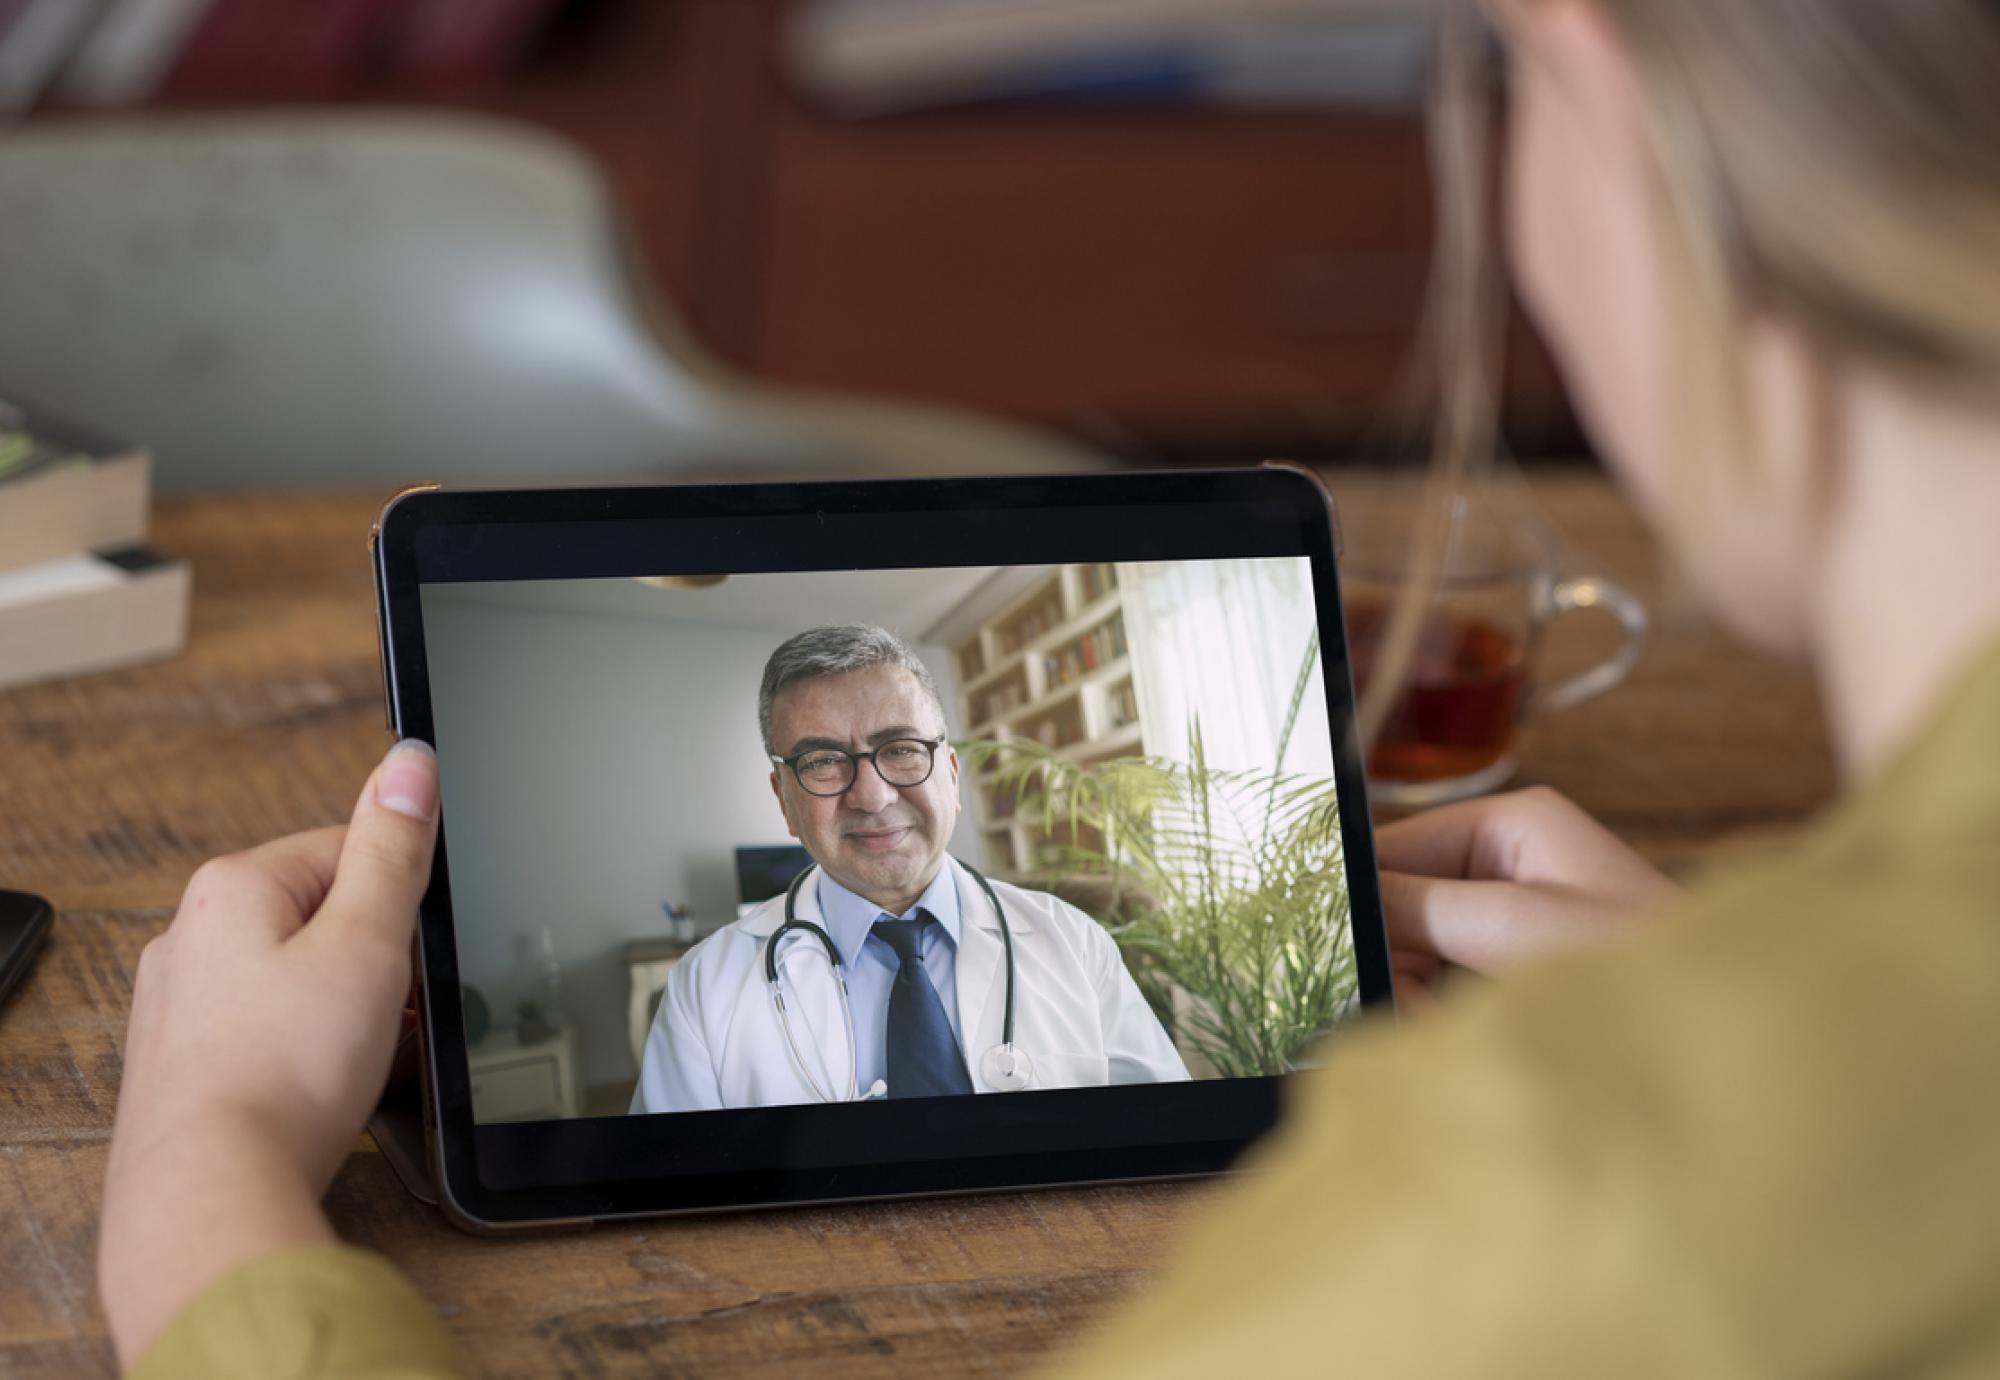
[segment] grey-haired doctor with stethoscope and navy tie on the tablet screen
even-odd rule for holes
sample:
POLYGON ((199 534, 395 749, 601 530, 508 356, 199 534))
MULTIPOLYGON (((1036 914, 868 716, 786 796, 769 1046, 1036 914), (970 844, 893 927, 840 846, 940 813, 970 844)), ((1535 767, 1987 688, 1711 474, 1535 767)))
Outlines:
POLYGON ((1188 1076, 1096 920, 946 854, 958 754, 902 640, 798 634, 758 720, 816 866, 674 966, 634 1112, 1188 1076))

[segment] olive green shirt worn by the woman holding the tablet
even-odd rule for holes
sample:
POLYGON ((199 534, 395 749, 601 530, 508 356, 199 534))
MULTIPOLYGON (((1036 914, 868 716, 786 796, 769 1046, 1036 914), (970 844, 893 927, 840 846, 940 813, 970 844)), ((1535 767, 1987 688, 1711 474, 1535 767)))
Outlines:
MULTIPOLYGON (((2000 1376, 2000 650, 1784 858, 1296 1098, 1066 1374, 2000 1376)), ((134 1374, 456 1372, 386 1264, 310 1246, 134 1374)))

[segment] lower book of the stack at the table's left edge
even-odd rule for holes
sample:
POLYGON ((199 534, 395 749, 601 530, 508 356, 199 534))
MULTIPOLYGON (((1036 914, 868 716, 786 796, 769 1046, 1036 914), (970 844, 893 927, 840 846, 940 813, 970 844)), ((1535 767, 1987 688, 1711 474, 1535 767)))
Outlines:
POLYGON ((150 546, 0 572, 0 688, 132 666, 188 640, 188 562, 150 546))

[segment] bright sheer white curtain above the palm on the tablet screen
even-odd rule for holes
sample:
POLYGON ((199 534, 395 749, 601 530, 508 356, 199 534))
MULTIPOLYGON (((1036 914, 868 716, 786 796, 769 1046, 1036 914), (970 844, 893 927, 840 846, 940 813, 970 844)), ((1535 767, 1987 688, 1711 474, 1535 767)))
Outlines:
POLYGON ((1120 564, 1118 584, 1148 756, 1184 762, 1188 728, 1200 716, 1210 766, 1334 774, 1318 658, 1278 762, 1278 736, 1318 626, 1308 558, 1120 564))

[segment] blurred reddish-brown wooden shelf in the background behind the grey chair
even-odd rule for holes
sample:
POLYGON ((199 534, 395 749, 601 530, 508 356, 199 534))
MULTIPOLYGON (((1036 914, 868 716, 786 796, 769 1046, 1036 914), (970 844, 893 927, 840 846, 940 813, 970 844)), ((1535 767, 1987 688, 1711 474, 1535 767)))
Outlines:
MULTIPOLYGON (((376 38, 342 62, 168 72, 140 104, 456 108, 554 130, 602 166, 700 340, 768 382, 974 408, 1152 460, 1382 440, 1430 240, 1408 100, 1140 90, 854 118, 798 76, 806 0, 528 8, 484 66, 398 70, 376 38)), ((58 82, 24 118, 100 110, 58 82)), ((1574 448, 1518 318, 1512 344, 1516 448, 1574 448)))

